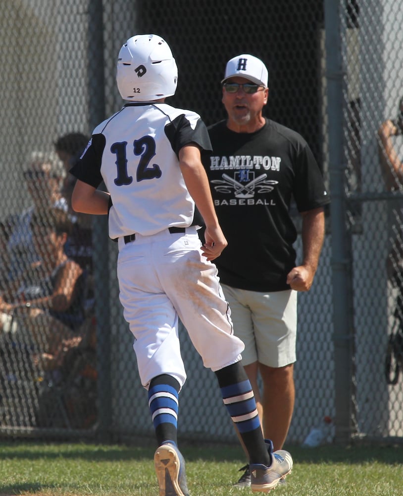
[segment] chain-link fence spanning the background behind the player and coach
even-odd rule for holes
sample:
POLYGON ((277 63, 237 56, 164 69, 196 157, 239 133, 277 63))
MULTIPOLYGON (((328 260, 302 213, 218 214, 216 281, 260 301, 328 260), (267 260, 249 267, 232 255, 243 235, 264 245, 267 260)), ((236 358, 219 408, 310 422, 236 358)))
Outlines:
MULTIPOLYGON (((226 61, 249 52, 266 62, 265 115, 305 137, 331 191, 320 266, 312 289, 299 295, 288 442, 302 442, 324 416, 333 419, 328 441, 403 439, 403 181, 394 168, 403 155, 402 12, 402 0, 364 0, 359 7, 355 0, 253 0, 247 15, 238 0, 1 2, 0 434, 153 435, 118 300, 116 245, 106 219, 70 211, 67 171, 80 150, 66 156, 58 142, 71 133, 88 137, 121 107, 120 46, 133 34, 156 33, 179 69, 170 103, 195 110, 206 124, 225 117, 226 61), (388 141, 396 162, 378 132, 388 120, 397 124, 388 141), (71 224, 54 239, 53 208, 65 210, 71 224), (38 233, 34 211, 45 231, 38 233), (75 288, 81 320, 61 334, 56 302, 46 303, 53 301, 49 288, 28 307, 39 293, 29 300, 22 289, 40 286, 27 266, 42 279, 54 276, 64 260, 55 245, 84 280, 82 287, 72 271, 64 283, 75 288)), ((301 257, 301 239, 296 248, 301 257)), ((214 374, 203 369, 183 328, 181 340, 188 380, 180 434, 235 440, 214 374)))

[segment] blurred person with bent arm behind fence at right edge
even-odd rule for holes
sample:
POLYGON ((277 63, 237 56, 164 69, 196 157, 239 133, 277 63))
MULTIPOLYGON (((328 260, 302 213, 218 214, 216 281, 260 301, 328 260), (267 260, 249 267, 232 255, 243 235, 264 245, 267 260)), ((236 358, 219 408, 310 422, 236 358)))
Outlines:
MULTIPOLYGON (((379 161, 388 191, 403 190, 403 98, 399 101, 396 118, 387 119, 378 129, 379 161)), ((389 279, 403 287, 403 201, 388 201, 390 247, 387 259, 389 279)))

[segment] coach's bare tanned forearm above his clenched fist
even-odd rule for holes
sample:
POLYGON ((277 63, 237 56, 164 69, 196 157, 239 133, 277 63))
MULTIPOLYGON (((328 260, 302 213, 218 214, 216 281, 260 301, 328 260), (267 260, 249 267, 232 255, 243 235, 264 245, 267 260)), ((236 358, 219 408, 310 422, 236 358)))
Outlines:
POLYGON ((302 265, 316 272, 325 237, 325 214, 323 208, 302 213, 302 265))

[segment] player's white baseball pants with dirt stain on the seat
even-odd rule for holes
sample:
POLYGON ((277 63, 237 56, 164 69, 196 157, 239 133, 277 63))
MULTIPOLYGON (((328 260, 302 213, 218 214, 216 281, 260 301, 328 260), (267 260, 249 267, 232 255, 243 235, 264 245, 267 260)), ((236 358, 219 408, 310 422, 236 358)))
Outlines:
POLYGON ((241 360, 244 343, 234 336, 230 310, 216 266, 201 253, 196 228, 118 240, 117 276, 124 317, 135 337, 141 382, 148 388, 160 374, 186 372, 178 337, 178 316, 204 367, 220 370, 241 360))

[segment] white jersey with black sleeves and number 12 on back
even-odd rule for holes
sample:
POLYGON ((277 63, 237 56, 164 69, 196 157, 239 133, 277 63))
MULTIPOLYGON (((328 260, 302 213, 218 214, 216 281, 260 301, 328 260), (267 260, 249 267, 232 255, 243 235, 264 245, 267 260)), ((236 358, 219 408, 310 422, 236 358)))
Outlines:
POLYGON ((190 143, 211 150, 200 116, 166 104, 128 103, 94 129, 70 172, 94 187, 104 181, 110 238, 192 225, 195 202, 178 166, 179 150, 190 143))

